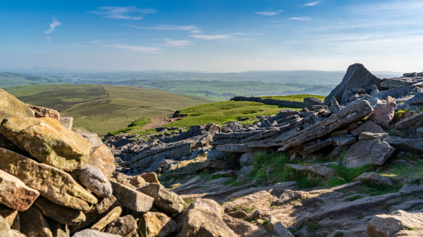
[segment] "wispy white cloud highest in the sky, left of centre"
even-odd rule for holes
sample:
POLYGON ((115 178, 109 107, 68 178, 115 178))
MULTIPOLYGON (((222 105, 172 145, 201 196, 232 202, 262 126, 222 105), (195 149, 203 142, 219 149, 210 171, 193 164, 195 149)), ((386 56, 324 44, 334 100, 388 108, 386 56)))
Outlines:
POLYGON ((90 11, 92 14, 102 15, 113 19, 124 19, 124 20, 141 20, 145 14, 156 13, 154 9, 140 9, 135 6, 126 7, 111 7, 102 6, 97 8, 98 10, 90 11))

